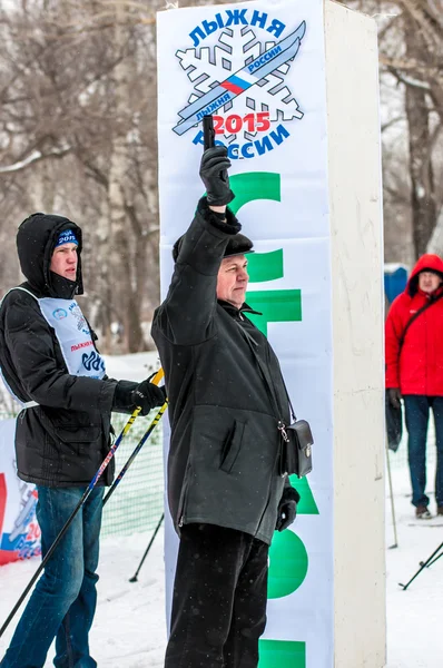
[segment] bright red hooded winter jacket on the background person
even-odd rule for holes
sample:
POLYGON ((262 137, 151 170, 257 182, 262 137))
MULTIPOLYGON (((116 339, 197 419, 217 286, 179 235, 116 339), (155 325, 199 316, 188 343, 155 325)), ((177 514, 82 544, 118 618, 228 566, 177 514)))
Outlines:
POLYGON ((413 268, 406 289, 398 295, 387 314, 385 334, 386 387, 400 387, 402 394, 443 396, 443 297, 421 313, 407 330, 398 360, 400 340, 410 318, 435 296, 419 288, 419 273, 440 272, 437 255, 422 255, 413 268))

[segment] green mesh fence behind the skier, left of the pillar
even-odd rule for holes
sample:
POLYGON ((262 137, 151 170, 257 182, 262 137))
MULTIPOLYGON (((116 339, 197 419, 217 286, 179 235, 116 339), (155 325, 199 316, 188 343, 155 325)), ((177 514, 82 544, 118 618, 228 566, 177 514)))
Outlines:
MULTIPOLYGON (((157 409, 158 410, 158 409, 157 409)), ((126 464, 139 440, 147 431, 157 410, 146 418, 137 418, 116 452, 116 475, 126 464)), ((0 411, 0 420, 16 418, 12 412, 0 411)), ((112 425, 118 435, 129 415, 112 414, 112 425)), ((121 479, 104 510, 101 536, 129 536, 150 531, 164 510, 163 420, 146 441, 129 470, 121 479)))

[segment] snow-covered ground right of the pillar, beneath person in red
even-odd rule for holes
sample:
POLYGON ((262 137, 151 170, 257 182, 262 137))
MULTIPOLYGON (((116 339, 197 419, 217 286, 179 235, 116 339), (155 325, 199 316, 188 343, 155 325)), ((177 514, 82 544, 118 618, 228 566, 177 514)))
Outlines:
MULTIPOLYGON (((429 438, 429 490, 433 490, 435 444, 431 425, 429 438)), ((410 500, 405 439, 397 453, 391 453, 394 507, 398 547, 394 543, 391 499, 386 497, 386 600, 387 600, 387 668, 441 668, 443 636, 439 623, 443 602, 443 558, 424 569, 404 591, 406 583, 442 544, 443 518, 435 517, 434 494, 430 510, 432 520, 416 521, 410 500)))

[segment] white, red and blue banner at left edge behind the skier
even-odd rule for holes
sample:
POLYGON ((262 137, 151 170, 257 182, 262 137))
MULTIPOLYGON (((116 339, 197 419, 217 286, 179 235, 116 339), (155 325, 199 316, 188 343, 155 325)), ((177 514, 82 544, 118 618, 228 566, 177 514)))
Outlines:
POLYGON ((16 420, 0 421, 0 566, 41 553, 36 485, 17 477, 16 420))

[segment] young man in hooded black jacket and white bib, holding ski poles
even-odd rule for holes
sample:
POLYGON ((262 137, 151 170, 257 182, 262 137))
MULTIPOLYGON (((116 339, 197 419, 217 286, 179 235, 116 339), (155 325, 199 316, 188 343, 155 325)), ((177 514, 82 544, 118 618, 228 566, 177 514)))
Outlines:
MULTIPOLYGON (((16 430, 18 474, 37 484, 45 556, 109 452, 111 411, 140 406, 147 414, 165 402, 165 393, 148 381, 106 377, 97 337, 75 299, 82 294, 81 229, 75 223, 33 214, 19 227, 17 248, 27 282, 1 303, 0 365, 23 405, 16 430)), ((48 561, 1 668, 42 667, 53 638, 58 668, 97 666, 88 633, 104 485, 112 474, 114 462, 48 561)))

